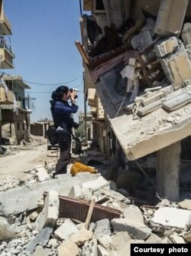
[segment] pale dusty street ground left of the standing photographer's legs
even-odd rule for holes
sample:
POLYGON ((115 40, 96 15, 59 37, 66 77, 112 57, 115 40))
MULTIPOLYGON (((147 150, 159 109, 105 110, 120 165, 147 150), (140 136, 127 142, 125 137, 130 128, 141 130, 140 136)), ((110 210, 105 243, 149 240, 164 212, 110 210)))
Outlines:
POLYGON ((47 144, 34 146, 34 149, 18 149, 15 153, 0 157, 0 179, 5 175, 18 177, 36 166, 47 162, 57 162, 57 151, 47 150, 47 144))

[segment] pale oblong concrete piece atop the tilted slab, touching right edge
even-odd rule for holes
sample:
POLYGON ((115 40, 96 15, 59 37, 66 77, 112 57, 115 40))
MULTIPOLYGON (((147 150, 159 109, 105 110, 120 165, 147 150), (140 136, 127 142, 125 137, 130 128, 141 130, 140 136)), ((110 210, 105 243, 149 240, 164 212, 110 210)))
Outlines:
POLYGON ((180 107, 183 107, 187 103, 191 102, 191 94, 185 93, 180 96, 174 97, 171 100, 167 100, 163 103, 163 108, 169 111, 177 110, 180 107))

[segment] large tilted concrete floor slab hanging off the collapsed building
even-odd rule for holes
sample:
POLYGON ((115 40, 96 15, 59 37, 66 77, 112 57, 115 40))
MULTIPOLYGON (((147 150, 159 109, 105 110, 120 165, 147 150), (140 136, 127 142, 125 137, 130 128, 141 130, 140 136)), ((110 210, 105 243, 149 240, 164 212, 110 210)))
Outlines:
MULTIPOLYGON (((159 108, 137 120, 134 120, 133 115, 127 114, 124 109, 115 117, 117 110, 115 110, 115 106, 110 98, 105 96, 107 94, 105 87, 102 87, 101 82, 96 83, 95 87, 102 101, 105 113, 108 115, 112 130, 115 136, 117 136, 128 160, 147 156, 190 135, 191 103, 188 103, 179 110, 174 110, 173 113, 167 113, 167 111, 159 108), (165 121, 167 117, 171 116, 179 117, 176 124, 165 121)), ((182 91, 182 89, 180 90, 182 91)), ((123 107, 125 106, 124 104, 123 107)))

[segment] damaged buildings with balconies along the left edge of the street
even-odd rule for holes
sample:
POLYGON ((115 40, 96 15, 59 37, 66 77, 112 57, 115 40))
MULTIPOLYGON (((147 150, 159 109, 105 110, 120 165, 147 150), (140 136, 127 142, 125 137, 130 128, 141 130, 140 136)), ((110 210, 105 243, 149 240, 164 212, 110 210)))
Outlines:
POLYGON ((0 1, 0 145, 18 144, 21 139, 29 140, 30 113, 25 106, 24 89, 30 89, 22 77, 5 74, 12 69, 15 54, 6 36, 11 35, 11 24, 0 1))

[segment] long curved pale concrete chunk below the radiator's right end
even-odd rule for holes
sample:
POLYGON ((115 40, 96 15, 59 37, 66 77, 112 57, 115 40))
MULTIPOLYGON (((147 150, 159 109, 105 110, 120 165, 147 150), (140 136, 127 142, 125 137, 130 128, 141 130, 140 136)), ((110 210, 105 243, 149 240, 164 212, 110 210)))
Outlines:
POLYGON ((134 218, 114 218, 111 223, 115 231, 127 231, 131 238, 144 240, 151 234, 151 228, 134 218))

